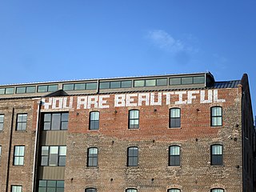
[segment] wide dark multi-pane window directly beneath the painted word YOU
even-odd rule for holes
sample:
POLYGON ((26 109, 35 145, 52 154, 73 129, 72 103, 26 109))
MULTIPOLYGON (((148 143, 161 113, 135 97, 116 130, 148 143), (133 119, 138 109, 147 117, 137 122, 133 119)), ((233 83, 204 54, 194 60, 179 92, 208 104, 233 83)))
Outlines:
POLYGON ((43 130, 67 130, 68 113, 44 114, 43 130))

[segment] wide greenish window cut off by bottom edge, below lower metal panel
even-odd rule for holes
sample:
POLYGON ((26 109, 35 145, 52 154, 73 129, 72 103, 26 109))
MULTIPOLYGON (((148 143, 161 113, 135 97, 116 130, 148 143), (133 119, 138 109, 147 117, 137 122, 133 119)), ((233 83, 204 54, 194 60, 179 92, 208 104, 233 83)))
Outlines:
POLYGON ((39 180, 38 192, 64 192, 64 181, 39 180))

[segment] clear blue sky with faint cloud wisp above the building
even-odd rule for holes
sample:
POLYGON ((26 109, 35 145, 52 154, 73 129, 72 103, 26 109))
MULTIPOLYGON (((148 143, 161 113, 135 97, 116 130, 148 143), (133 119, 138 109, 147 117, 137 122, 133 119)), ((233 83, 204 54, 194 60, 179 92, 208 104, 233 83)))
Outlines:
POLYGON ((0 84, 209 70, 247 73, 255 0, 0 0, 0 84))

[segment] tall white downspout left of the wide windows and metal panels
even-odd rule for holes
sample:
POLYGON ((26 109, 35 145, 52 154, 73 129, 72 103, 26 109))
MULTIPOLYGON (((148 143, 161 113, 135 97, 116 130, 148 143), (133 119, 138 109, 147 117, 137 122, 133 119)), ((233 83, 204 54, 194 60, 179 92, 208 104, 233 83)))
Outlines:
POLYGON ((35 130, 35 139, 34 139, 34 162, 33 162, 33 175, 32 175, 32 192, 34 192, 35 190, 35 170, 36 170, 36 159, 37 159, 37 149, 38 149, 38 127, 39 127, 39 116, 40 116, 40 109, 42 102, 38 101, 38 114, 37 114, 37 126, 36 126, 36 130, 35 130))

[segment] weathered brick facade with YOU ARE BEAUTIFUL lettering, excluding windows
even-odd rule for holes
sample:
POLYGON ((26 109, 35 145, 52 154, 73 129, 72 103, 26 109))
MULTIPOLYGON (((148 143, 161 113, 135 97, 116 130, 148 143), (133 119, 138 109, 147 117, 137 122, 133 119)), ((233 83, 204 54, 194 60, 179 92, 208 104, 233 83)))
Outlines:
POLYGON ((1 191, 11 191, 14 185, 38 191, 38 180, 63 180, 70 192, 254 191, 254 126, 246 75, 227 88, 166 86, 0 96, 0 114, 1 191), (222 107, 222 126, 211 126, 213 106, 222 107), (171 108, 181 111, 178 128, 170 128, 171 108), (129 110, 139 110, 138 129, 129 129, 129 110), (89 129, 91 111, 99 112, 98 130, 89 129), (60 112, 69 113, 68 130, 43 131, 43 115, 60 112), (24 113, 26 130, 16 130, 17 114, 24 113), (223 147, 223 163, 218 166, 211 165, 215 144, 223 147), (14 166, 14 146, 19 145, 25 146, 24 165, 14 166), (42 146, 66 146, 66 166, 42 167, 42 146), (127 166, 131 146, 138 147, 138 166, 127 166), (180 146, 179 166, 169 166, 170 146, 180 146), (90 147, 98 148, 98 166, 87 166, 90 147))

